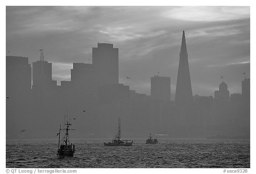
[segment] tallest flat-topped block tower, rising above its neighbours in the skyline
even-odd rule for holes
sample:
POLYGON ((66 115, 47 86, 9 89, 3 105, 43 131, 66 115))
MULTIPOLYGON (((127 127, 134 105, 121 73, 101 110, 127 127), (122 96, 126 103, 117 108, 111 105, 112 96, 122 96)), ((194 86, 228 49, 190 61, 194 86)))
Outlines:
POLYGON ((92 48, 92 64, 99 71, 101 84, 118 84, 118 48, 113 44, 98 43, 98 47, 92 48))

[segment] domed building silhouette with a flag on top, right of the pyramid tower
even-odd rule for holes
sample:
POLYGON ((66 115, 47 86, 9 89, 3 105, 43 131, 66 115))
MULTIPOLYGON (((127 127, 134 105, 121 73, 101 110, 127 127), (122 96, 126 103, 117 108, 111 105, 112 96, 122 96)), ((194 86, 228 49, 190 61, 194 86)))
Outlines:
POLYGON ((219 91, 214 92, 214 99, 217 103, 226 105, 229 103, 228 85, 223 81, 219 85, 219 91))

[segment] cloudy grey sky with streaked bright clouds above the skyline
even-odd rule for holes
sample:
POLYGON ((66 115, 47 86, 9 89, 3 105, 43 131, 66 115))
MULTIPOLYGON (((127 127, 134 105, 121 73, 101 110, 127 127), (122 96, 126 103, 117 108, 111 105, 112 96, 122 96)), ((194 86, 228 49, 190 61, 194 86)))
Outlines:
POLYGON ((92 47, 111 43, 120 83, 150 95, 150 77, 168 76, 175 93, 183 30, 193 95, 214 95, 222 80, 241 93, 243 73, 250 78, 247 6, 7 6, 6 55, 32 64, 43 49, 60 85, 72 63, 92 63, 92 47))

